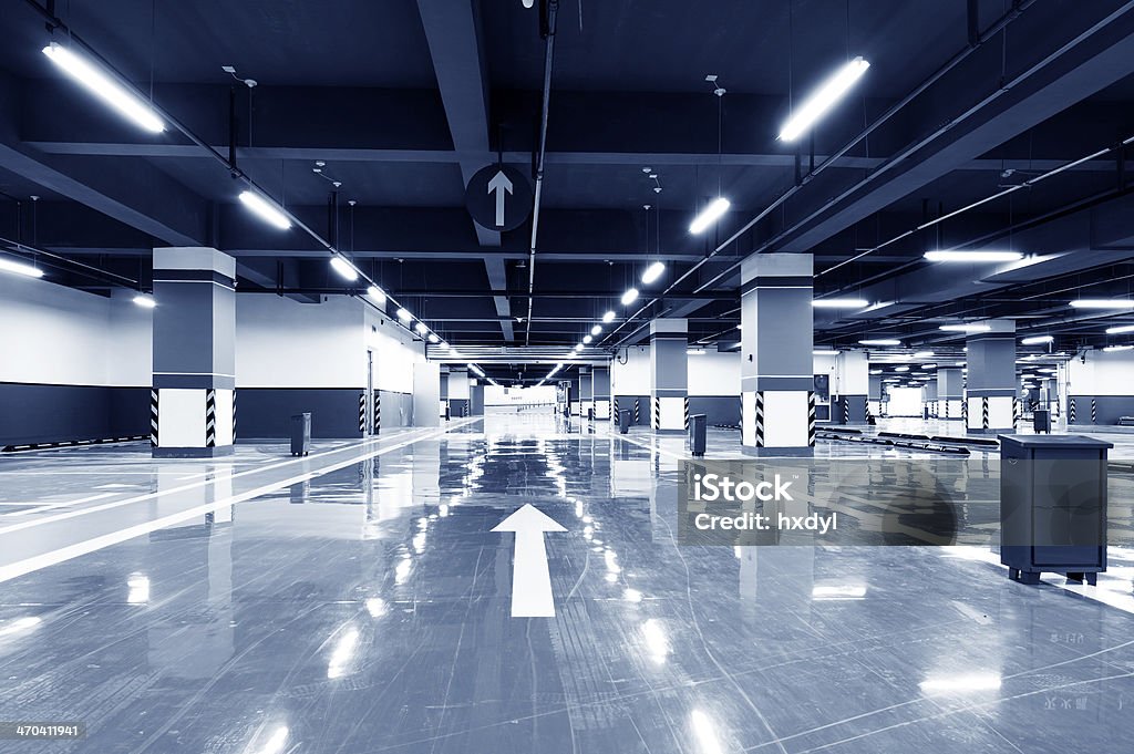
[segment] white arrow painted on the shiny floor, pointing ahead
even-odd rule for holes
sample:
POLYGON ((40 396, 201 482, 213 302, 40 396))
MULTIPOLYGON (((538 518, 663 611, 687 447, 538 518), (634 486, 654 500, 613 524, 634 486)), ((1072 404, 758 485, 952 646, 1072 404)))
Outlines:
POLYGON ((527 503, 492 531, 516 533, 516 557, 511 565, 511 617, 555 618, 556 603, 551 598, 551 573, 548 570, 543 534, 567 530, 527 503))

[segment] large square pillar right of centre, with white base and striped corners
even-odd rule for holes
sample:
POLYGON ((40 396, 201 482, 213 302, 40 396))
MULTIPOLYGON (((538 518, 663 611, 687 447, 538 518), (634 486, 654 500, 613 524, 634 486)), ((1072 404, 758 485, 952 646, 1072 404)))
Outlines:
POLYGON ((754 456, 811 456, 815 443, 811 254, 741 265, 741 442, 754 456))

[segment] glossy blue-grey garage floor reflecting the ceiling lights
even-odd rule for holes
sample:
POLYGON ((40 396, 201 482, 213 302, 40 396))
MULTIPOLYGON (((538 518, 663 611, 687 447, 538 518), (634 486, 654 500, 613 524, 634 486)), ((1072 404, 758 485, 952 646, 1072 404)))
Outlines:
POLYGON ((521 414, 0 459, 0 721, 87 727, 0 752, 1131 751, 1134 551, 1086 587, 979 547, 678 545, 683 457, 521 414), (524 503, 567 530, 552 618, 509 612, 524 503))

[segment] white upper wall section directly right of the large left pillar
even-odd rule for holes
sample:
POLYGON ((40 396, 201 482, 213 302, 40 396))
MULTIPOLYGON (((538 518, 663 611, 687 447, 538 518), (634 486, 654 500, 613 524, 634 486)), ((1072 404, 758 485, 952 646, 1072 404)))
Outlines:
POLYGON ((364 387, 363 306, 346 296, 301 304, 266 294, 237 295, 236 387, 364 387))

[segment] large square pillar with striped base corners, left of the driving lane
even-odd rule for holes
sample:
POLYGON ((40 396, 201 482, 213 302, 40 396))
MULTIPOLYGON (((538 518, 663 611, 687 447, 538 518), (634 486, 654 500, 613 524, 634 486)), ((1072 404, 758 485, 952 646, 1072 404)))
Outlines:
POLYGON ((236 260, 215 248, 155 248, 153 297, 153 457, 230 455, 236 260))

